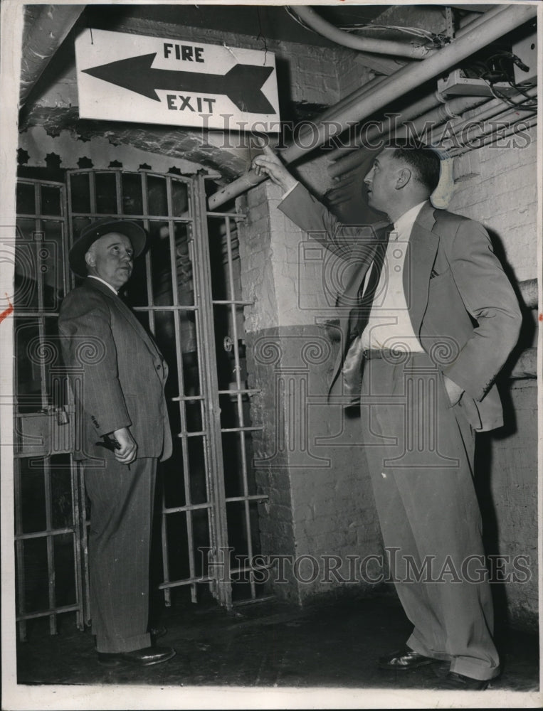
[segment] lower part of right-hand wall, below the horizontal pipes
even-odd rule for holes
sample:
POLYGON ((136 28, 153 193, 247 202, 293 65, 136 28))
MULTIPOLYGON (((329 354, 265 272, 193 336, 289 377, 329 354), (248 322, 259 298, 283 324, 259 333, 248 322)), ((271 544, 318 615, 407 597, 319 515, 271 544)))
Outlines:
POLYGON ((537 382, 516 380, 503 394, 505 427, 480 435, 476 483, 487 555, 500 561, 492 592, 497 619, 537 630, 537 382))

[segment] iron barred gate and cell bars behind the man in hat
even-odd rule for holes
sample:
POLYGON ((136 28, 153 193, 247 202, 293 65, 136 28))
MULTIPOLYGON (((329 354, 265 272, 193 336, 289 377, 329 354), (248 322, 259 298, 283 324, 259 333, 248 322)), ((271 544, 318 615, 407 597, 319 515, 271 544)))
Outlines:
MULTIPOLYGON (((154 582, 197 602, 254 600, 261 590, 257 501, 243 346, 236 213, 206 213, 204 176, 152 171, 68 171, 66 183, 21 179, 16 237, 15 501, 19 635, 35 617, 73 612, 83 629, 88 604, 87 506, 73 461, 73 398, 60 359, 56 320, 74 235, 118 216, 147 231, 126 298, 169 364, 167 400, 174 454, 160 467, 162 570, 154 582), (224 571, 225 552, 243 562, 224 571)), ((160 556, 159 556, 160 557, 160 556)))

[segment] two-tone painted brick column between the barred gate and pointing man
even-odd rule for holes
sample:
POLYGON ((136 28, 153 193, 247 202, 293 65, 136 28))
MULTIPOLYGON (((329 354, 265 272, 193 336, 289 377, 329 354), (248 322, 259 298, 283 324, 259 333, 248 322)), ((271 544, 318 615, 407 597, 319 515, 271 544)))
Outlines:
POLYGON ((337 349, 324 325, 334 316, 326 250, 277 209, 280 189, 270 181, 240 201, 248 215, 239 226, 242 293, 253 301, 249 387, 261 391, 251 417, 263 427, 253 437, 254 466, 268 496, 260 538, 263 555, 278 557, 270 585, 300 604, 372 589, 382 550, 359 419, 326 402, 337 349))

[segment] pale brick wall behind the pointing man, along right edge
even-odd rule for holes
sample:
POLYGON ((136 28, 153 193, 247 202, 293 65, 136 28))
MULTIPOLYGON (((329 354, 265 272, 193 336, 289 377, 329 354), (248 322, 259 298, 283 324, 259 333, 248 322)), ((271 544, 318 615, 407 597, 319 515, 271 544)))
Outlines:
MULTIPOLYGON (((490 233, 513 284, 539 277, 537 139, 487 146, 455 159, 449 209, 479 220, 490 233)), ((520 347, 537 343, 537 312, 524 309, 520 347)), ((529 557, 529 580, 494 587, 497 615, 537 629, 537 381, 501 383, 505 427, 478 437, 478 479, 486 550, 529 557)), ((512 563, 507 570, 511 572, 512 563)))

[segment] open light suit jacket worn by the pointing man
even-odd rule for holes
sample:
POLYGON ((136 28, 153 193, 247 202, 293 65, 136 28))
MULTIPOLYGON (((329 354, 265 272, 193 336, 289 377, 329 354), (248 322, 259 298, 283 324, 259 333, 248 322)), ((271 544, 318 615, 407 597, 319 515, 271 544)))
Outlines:
MULTIPOLYGON (((298 185, 279 205, 302 230, 329 250, 352 258, 357 246, 359 283, 386 237, 368 228, 347 227, 298 185)), ((413 331, 441 371, 464 388, 463 407, 474 429, 502 424, 493 385, 517 342, 522 316, 515 292, 490 237, 479 223, 423 205, 409 240, 404 292, 413 331)), ((350 342, 348 314, 340 319, 342 347, 334 368, 338 379, 350 342)), ((362 367, 363 363, 361 363, 362 367)))

